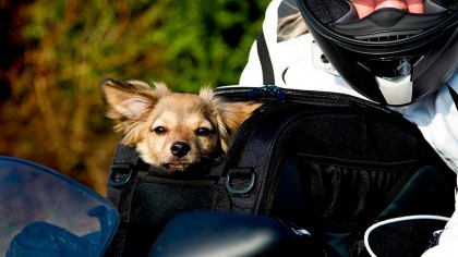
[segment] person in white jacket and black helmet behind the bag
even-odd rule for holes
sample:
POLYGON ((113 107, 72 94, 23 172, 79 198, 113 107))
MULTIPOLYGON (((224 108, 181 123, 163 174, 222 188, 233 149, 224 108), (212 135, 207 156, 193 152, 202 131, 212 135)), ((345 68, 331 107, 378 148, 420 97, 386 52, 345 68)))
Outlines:
MULTIPOLYGON (((457 9, 456 0, 273 0, 263 32, 275 84, 385 105, 458 173, 457 9)), ((262 83, 254 44, 239 84, 262 83)), ((458 211, 423 256, 458 256, 458 211)))

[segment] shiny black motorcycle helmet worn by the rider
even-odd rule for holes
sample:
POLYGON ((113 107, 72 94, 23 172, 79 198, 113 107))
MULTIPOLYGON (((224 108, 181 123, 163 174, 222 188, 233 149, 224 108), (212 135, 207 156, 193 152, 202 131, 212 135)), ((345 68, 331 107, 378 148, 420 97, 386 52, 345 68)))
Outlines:
POLYGON ((405 106, 418 101, 442 87, 457 70, 457 0, 425 0, 424 14, 379 9, 363 19, 358 19, 348 0, 297 3, 340 76, 376 102, 405 106), (384 79, 411 83, 411 97, 387 99, 379 86, 384 79))

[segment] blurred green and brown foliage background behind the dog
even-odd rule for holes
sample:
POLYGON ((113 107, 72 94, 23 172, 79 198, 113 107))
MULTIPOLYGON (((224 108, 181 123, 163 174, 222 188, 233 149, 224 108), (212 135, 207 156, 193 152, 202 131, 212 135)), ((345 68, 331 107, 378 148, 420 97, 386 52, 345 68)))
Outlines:
POLYGON ((269 0, 0 0, 0 155, 100 194, 120 134, 98 82, 237 84, 269 0))

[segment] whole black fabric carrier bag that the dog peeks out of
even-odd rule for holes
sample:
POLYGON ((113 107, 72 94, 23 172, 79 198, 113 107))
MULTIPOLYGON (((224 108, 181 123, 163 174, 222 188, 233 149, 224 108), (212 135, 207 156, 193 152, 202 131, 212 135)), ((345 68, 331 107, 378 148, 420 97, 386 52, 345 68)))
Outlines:
MULTIPOLYGON (((239 101, 251 91, 216 95, 239 101)), ((170 219, 193 210, 277 217, 311 231, 315 253, 328 256, 364 256, 362 233, 377 220, 451 215, 455 173, 401 115, 340 94, 285 89, 278 101, 266 91, 253 96, 264 105, 227 156, 201 176, 164 178, 128 161, 134 172, 108 191, 121 225, 107 256, 147 254, 170 219)))

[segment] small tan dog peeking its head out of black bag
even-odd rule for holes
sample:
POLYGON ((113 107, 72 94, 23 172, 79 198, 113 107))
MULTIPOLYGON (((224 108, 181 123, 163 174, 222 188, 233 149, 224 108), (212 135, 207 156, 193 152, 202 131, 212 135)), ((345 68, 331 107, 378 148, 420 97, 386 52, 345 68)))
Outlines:
POLYGON ((172 93, 140 81, 101 82, 107 117, 122 131, 123 144, 135 146, 147 163, 168 173, 184 171, 204 158, 227 151, 237 128, 257 109, 257 102, 227 102, 203 87, 197 95, 172 93))

